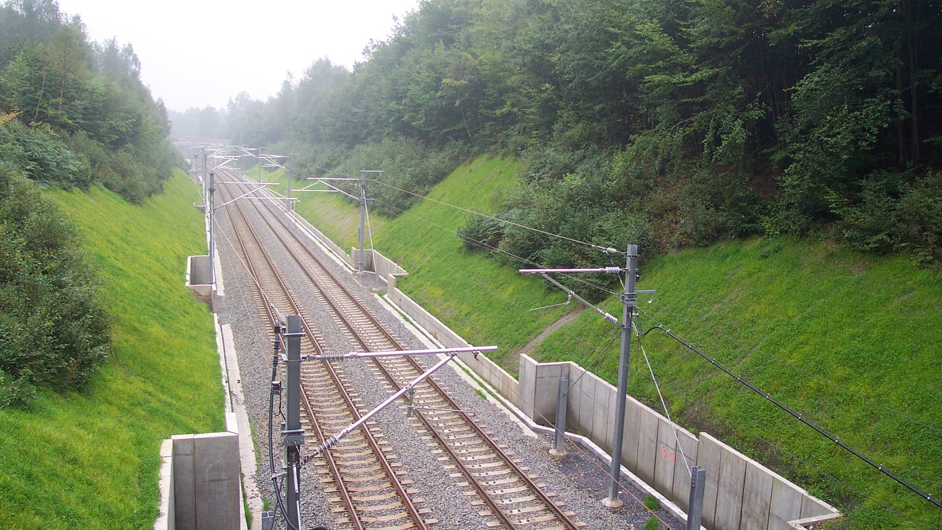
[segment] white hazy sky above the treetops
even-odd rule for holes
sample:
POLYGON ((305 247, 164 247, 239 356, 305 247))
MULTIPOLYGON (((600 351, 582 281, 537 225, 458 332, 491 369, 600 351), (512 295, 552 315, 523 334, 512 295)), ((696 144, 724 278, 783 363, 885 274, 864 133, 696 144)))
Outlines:
POLYGON ((141 79, 167 108, 225 107, 247 91, 276 94, 287 72, 299 79, 317 58, 348 68, 370 39, 386 40, 418 0, 59 0, 93 41, 130 42, 141 79))

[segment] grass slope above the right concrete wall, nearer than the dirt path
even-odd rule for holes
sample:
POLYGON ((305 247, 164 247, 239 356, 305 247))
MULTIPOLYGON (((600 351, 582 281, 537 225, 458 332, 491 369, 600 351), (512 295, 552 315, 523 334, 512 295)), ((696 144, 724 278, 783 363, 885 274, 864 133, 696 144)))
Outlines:
MULTIPOLYGON (((663 324, 934 498, 942 494, 942 284, 906 257, 827 242, 726 242, 642 265, 642 328, 663 324)), ((620 302, 609 300, 609 311, 620 302)), ((612 326, 584 313, 535 356, 589 364, 612 326)), ((675 418, 849 511, 847 528, 937 527, 940 510, 658 330, 641 340, 675 418), (885 506, 882 506, 882 505, 885 506), (899 512, 899 514, 894 513, 899 512)), ((617 379, 617 343, 593 366, 617 379)), ((628 390, 660 409, 639 341, 628 390)))

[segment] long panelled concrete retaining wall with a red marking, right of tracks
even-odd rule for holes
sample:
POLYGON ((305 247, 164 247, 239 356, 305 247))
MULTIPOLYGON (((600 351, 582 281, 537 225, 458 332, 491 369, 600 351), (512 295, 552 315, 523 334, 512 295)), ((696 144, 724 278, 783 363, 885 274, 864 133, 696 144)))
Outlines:
MULTIPOLYGON (((575 363, 538 363, 520 356, 517 406, 534 422, 550 424, 560 377, 567 377, 572 387, 566 422, 610 451, 617 390, 575 363)), ((833 506, 722 441, 707 433, 694 436, 631 396, 625 402, 622 464, 684 510, 690 496, 688 467, 706 469, 703 524, 711 530, 788 529, 804 518, 817 522, 839 515, 833 506)))

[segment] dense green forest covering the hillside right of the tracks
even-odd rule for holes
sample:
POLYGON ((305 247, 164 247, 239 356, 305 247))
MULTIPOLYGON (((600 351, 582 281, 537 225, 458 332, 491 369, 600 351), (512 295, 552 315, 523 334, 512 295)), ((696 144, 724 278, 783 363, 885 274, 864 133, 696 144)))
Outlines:
MULTIPOLYGON (((812 234, 937 267, 940 23, 937 0, 427 0, 352 71, 320 58, 266 101, 171 121, 301 153, 308 174, 382 169, 389 216, 495 151, 528 161, 498 217, 569 238, 662 253, 812 234)), ((607 264, 495 220, 460 235, 607 264)))

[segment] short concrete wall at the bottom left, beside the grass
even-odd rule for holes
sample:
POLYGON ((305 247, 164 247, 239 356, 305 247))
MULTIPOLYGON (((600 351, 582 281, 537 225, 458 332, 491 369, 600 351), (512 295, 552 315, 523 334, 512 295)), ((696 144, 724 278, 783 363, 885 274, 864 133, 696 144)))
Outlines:
POLYGON ((240 520, 238 435, 174 435, 161 445, 160 514, 154 530, 222 530, 240 520))

